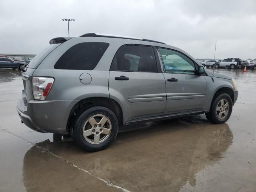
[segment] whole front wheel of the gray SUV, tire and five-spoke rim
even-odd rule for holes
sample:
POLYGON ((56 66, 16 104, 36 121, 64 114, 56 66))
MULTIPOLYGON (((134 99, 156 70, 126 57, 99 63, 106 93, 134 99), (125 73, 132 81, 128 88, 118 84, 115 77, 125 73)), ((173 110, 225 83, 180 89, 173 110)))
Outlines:
POLYGON ((226 122, 232 113, 233 102, 230 96, 222 93, 212 102, 210 112, 206 113, 206 118, 215 124, 226 122))

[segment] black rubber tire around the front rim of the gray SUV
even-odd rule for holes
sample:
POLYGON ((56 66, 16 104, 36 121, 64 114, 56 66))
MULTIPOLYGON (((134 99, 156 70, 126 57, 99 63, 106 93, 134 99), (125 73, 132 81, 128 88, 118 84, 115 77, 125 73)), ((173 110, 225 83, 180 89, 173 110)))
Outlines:
POLYGON ((212 123, 215 123, 215 124, 221 124, 221 123, 224 123, 226 122, 229 118, 230 118, 230 115, 232 113, 232 108, 233 108, 233 102, 232 102, 232 99, 231 97, 226 94, 226 93, 222 93, 220 94, 219 96, 217 96, 214 101, 212 102, 212 105, 210 107, 210 112, 208 113, 205 113, 205 116, 206 118, 212 122, 212 123), (225 99, 228 101, 228 104, 229 104, 229 109, 228 109, 228 114, 226 115, 225 118, 222 118, 220 119, 217 115, 217 105, 218 103, 220 102, 220 100, 222 99, 225 99))

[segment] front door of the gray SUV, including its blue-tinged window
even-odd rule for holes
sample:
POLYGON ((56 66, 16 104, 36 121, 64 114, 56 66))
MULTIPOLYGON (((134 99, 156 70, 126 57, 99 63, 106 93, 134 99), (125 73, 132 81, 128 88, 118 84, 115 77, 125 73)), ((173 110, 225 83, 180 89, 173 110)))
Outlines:
POLYGON ((196 64, 175 50, 158 50, 165 68, 167 101, 164 114, 204 110, 207 84, 204 76, 196 75, 196 64))

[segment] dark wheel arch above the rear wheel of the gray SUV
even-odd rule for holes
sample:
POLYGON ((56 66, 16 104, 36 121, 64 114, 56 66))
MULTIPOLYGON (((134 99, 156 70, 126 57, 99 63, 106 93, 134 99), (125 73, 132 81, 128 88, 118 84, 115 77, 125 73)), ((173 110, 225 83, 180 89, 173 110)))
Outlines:
POLYGON ((82 112, 94 106, 104 106, 112 110, 114 114, 116 114, 116 117, 118 118, 119 126, 122 126, 123 112, 118 102, 107 97, 90 97, 90 98, 84 98, 80 100, 72 107, 72 109, 70 110, 70 114, 68 116, 66 130, 69 131, 70 128, 74 126, 74 122, 82 112))

